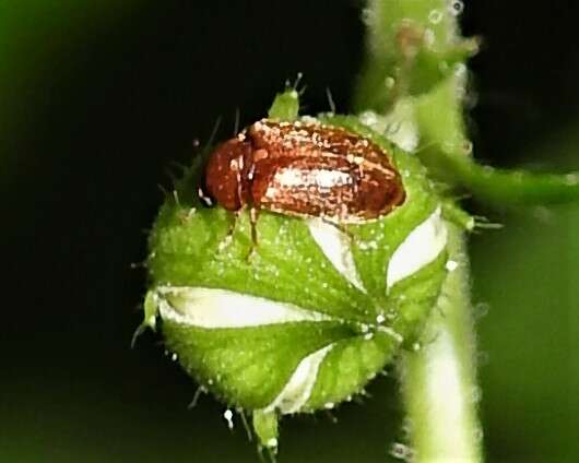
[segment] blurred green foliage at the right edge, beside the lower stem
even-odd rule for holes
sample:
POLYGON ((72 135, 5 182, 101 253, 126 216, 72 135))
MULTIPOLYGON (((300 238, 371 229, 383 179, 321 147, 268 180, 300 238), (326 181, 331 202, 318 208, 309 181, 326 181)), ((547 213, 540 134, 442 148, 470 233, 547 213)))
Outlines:
MULTIPOLYGON (((530 163, 579 166, 579 120, 530 163)), ((489 461, 576 461, 579 416, 579 206, 510 211, 473 239, 482 412, 489 461), (497 258, 503 256, 503 258, 497 258)))

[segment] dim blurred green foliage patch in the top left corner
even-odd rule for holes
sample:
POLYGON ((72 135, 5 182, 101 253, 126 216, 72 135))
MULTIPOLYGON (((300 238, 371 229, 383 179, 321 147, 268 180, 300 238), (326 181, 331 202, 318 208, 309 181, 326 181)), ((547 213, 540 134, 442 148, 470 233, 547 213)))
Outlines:
MULTIPOLYGON (((58 93, 38 98, 38 88, 54 86, 56 75, 74 72, 76 57, 106 27, 134 10, 137 0, 43 1, 5 0, 0 2, 0 132, 3 142, 33 130, 35 111, 58 98, 58 93)), ((90 56, 85 56, 90 59, 90 56)), ((52 88, 57 90, 57 88, 52 88)), ((13 151, 0 156, 0 171, 17 168, 21 159, 13 151)), ((4 180, 5 181, 5 180, 4 180)))

